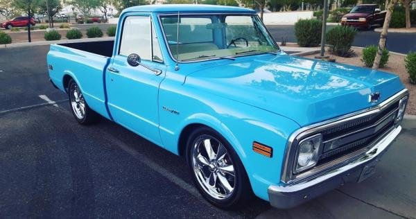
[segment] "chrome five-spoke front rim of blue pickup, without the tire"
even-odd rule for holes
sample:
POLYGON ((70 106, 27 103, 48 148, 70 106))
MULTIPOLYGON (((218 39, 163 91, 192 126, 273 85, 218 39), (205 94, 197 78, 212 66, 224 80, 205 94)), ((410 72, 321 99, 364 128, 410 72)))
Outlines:
POLYGON ((229 198, 236 186, 236 174, 227 149, 210 135, 200 136, 192 149, 193 173, 198 184, 212 198, 229 198))

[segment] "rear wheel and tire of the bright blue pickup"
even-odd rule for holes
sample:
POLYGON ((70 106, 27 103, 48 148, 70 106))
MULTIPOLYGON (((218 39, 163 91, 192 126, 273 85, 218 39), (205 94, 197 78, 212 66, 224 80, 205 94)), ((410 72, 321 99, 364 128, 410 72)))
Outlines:
POLYGON ((68 82, 68 97, 69 107, 71 107, 73 117, 75 117, 78 123, 87 125, 97 121, 99 118, 98 114, 89 108, 83 93, 73 79, 68 82))

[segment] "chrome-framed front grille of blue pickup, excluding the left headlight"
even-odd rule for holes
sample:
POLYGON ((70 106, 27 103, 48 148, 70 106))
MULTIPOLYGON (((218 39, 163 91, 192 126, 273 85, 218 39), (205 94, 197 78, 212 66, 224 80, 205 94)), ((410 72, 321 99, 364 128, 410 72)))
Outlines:
POLYGON ((281 182, 293 184, 313 179, 361 159, 368 150, 382 143, 381 139, 389 133, 401 130, 397 112, 399 103, 405 96, 408 96, 407 89, 369 109, 315 123, 293 132, 286 147, 281 182), (315 166, 300 173, 295 172, 299 144, 315 135, 320 135, 322 139, 315 166))

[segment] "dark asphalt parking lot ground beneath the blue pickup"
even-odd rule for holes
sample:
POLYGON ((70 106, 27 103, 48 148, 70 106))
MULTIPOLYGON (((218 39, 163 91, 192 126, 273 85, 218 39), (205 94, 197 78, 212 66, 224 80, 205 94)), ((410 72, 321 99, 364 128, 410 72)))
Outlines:
POLYGON ((49 46, 0 49, 0 218, 415 218, 416 120, 376 174, 288 210, 203 200, 185 162, 102 119, 78 125, 46 72, 49 46))

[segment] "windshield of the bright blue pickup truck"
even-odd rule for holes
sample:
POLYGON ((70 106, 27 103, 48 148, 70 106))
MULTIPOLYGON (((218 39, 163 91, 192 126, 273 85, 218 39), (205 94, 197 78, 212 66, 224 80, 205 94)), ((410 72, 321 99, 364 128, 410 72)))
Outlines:
POLYGON ((279 51, 257 15, 180 15, 179 26, 177 17, 164 15, 160 20, 179 62, 279 51))

